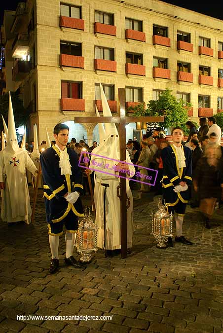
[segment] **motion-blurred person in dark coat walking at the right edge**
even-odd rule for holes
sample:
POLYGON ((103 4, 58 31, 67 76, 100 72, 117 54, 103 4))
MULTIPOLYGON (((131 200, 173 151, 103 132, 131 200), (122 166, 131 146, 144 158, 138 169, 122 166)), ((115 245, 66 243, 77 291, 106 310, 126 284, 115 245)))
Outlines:
POLYGON ((216 143, 206 146, 204 157, 200 158, 194 175, 193 186, 200 199, 200 211, 205 227, 210 229, 216 201, 221 197, 221 147, 216 143))

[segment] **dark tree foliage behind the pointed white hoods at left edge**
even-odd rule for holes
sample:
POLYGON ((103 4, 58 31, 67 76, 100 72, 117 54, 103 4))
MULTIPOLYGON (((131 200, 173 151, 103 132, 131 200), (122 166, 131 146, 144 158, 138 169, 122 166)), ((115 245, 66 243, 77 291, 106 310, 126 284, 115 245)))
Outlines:
MULTIPOLYGON (((18 94, 11 92, 11 101, 12 108, 15 119, 15 126, 18 128, 21 125, 24 125, 28 118, 30 112, 28 112, 23 107, 23 102, 19 99, 18 94)), ((3 115, 6 124, 8 123, 8 102, 9 102, 9 93, 0 96, 0 113, 3 115)), ((2 118, 0 116, 0 130, 3 130, 2 118)))

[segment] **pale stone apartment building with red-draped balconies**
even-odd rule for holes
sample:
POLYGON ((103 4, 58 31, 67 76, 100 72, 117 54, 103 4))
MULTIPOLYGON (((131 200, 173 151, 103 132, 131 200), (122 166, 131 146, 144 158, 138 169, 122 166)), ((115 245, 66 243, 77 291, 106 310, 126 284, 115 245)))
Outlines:
MULTIPOLYGON (((99 82, 114 115, 118 88, 125 88, 126 109, 169 88, 192 104, 191 120, 223 111, 219 19, 159 0, 27 0, 10 34, 5 66, 13 62, 14 90, 40 141, 45 124, 51 134, 58 122, 94 115, 95 104, 102 111, 99 82)), ((83 126, 90 142, 95 124, 83 126)))

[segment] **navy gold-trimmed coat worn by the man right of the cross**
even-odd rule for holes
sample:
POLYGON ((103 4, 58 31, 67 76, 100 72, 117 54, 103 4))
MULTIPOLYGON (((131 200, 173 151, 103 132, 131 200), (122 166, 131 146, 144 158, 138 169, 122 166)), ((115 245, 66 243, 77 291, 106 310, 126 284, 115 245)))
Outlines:
POLYGON ((185 153, 186 167, 179 169, 178 158, 174 145, 163 148, 161 157, 163 161, 163 199, 167 206, 175 206, 179 200, 187 203, 190 198, 189 185, 192 183, 192 167, 191 167, 191 150, 188 147, 183 147, 185 153), (174 186, 180 182, 186 182, 188 189, 183 192, 174 192, 174 186))

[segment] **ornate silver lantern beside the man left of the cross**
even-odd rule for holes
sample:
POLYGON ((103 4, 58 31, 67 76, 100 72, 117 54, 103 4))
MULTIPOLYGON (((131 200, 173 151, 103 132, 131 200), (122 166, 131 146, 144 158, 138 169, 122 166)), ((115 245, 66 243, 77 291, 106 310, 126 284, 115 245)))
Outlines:
POLYGON ((98 227, 91 217, 89 207, 84 208, 84 218, 78 224, 76 249, 81 254, 81 262, 89 262, 93 251, 97 251, 98 227))

